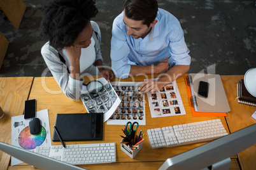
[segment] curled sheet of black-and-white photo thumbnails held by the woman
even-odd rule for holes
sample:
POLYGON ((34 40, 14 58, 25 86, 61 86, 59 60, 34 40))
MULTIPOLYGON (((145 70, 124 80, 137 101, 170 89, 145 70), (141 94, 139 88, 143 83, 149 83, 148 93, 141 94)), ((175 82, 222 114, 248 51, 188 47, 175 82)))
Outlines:
POLYGON ((89 93, 87 87, 83 85, 80 98, 88 113, 104 113, 104 122, 107 121, 117 109, 120 98, 110 82, 104 78, 97 79, 103 84, 103 89, 96 94, 89 93))

